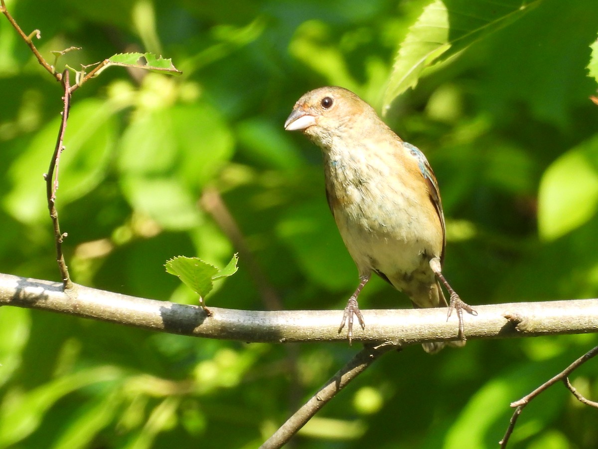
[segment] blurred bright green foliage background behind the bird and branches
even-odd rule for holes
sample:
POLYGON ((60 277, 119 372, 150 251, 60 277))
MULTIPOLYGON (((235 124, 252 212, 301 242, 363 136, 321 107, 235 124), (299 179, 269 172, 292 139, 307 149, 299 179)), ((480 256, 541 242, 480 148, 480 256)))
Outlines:
MULTIPOLYGON (((389 106, 389 124, 427 154, 447 216, 445 272, 466 302, 596 297, 596 44, 587 67, 598 4, 428 3, 8 1, 26 32, 41 30, 44 56, 83 47, 61 70, 151 51, 184 72, 111 68, 75 93, 57 201, 74 281, 194 304, 164 262, 182 254, 224 266, 239 250, 199 206, 209 187, 283 307, 340 310, 356 270, 327 210, 321 156, 282 127, 304 92, 337 84, 389 106), (403 41, 411 47, 395 65, 403 41), (434 45, 418 65, 423 43, 434 45)), ((2 272, 58 280, 42 174, 60 96, 2 17, 2 272)), ((243 255, 239 267, 208 304, 266 308, 243 255)), ((381 281, 361 298, 365 308, 408 307, 381 281)), ((496 447, 509 402, 597 341, 388 354, 294 447, 496 447)), ((0 447, 257 447, 357 350, 208 341, 5 307, 0 447)), ((590 362, 574 381, 594 399, 595 373, 590 362)), ((555 386, 526 408, 511 447, 594 448, 597 418, 555 386)))

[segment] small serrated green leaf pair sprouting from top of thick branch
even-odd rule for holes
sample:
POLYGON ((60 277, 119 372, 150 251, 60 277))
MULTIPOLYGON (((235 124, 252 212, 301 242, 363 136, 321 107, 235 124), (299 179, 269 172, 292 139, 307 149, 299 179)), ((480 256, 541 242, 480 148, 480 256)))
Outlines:
POLYGON ((202 298, 212 291, 213 280, 228 277, 237 271, 237 254, 223 269, 218 269, 198 257, 176 256, 166 262, 166 271, 178 276, 181 281, 190 287, 202 298))

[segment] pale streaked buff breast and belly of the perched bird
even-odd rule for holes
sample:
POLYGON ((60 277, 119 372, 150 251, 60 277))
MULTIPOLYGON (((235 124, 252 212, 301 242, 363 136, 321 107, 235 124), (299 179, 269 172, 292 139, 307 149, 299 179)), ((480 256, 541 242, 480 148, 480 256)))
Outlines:
POLYGON ((325 157, 332 214, 360 272, 409 274, 440 256, 440 220, 429 195, 405 180, 404 167, 368 156, 325 157))

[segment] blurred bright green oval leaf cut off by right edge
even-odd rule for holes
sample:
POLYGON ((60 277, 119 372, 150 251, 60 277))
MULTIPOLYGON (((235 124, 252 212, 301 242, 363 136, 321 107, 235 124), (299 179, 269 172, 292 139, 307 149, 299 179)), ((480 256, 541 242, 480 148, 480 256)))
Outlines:
POLYGON ((583 225, 598 206, 598 136, 548 167, 538 193, 538 227, 554 240, 583 225))

